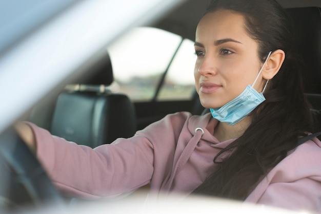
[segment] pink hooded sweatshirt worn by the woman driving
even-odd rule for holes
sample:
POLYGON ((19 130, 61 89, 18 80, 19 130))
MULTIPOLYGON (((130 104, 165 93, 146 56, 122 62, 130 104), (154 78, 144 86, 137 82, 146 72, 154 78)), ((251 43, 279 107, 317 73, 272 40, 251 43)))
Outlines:
MULTIPOLYGON (((210 114, 186 112, 168 115, 132 138, 94 149, 29 124, 38 159, 56 186, 86 198, 128 195, 148 183, 153 193, 187 196, 213 171, 215 155, 234 141, 219 142, 213 136, 217 120, 210 114)), ((313 138, 294 149, 246 202, 321 211, 321 142, 313 138)))

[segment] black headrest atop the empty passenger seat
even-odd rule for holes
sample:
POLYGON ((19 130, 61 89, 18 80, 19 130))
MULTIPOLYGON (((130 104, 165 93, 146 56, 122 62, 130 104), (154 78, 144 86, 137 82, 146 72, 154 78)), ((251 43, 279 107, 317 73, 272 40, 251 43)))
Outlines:
POLYGON ((114 81, 113 70, 109 54, 106 52, 101 58, 88 68, 86 76, 74 80, 73 84, 110 85, 114 81))

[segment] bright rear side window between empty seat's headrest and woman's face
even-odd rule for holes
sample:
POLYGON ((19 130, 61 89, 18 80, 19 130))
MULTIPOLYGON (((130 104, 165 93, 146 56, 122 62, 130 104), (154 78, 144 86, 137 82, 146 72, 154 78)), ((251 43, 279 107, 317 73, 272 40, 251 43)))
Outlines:
POLYGON ((164 30, 135 28, 107 48, 115 79, 112 90, 133 101, 191 99, 193 44, 164 30))

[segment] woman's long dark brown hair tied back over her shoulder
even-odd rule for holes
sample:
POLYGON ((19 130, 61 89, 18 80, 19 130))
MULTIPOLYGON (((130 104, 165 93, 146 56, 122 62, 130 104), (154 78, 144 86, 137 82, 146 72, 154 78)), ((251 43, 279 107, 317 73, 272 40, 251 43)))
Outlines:
POLYGON ((259 179, 296 147, 299 136, 314 132, 313 118, 304 96, 303 64, 295 48, 292 21, 285 9, 274 0, 213 0, 205 14, 222 9, 244 16, 262 62, 270 51, 281 49, 286 54, 268 83, 266 101, 251 113, 248 129, 218 153, 215 172, 193 191, 245 200, 259 179), (222 160, 228 151, 233 152, 222 160))

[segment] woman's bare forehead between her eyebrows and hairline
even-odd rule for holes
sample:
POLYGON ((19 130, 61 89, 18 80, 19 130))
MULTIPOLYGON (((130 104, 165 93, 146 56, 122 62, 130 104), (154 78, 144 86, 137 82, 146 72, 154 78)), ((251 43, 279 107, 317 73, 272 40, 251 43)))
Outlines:
POLYGON ((222 38, 251 39, 245 30, 244 16, 230 10, 207 13, 198 23, 195 40, 222 38))

